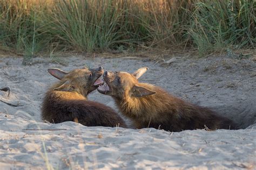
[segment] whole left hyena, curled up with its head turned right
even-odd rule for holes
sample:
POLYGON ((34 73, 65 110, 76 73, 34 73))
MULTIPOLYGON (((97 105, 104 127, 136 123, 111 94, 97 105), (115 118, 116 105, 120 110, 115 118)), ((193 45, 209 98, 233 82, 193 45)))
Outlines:
POLYGON ((79 122, 85 126, 120 125, 126 128, 123 119, 104 104, 87 101, 87 95, 104 83, 98 80, 102 67, 96 69, 74 69, 66 73, 50 68, 48 72, 59 79, 47 92, 42 107, 42 119, 50 123, 79 122))

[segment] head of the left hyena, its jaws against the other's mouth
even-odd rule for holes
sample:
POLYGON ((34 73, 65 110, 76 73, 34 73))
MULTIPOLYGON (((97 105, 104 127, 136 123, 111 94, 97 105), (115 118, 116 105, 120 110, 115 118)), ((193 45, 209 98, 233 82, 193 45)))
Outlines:
POLYGON ((57 68, 49 68, 48 72, 60 80, 53 87, 53 90, 76 91, 83 96, 87 96, 104 83, 103 80, 98 80, 104 72, 102 67, 93 69, 78 68, 68 73, 57 68))

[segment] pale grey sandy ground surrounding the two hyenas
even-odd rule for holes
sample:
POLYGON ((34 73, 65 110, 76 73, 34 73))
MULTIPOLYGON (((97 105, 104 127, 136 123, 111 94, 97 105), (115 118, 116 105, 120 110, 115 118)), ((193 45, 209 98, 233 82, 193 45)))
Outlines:
MULTIPOLYGON (((166 61, 169 59, 165 57, 166 61)), ((8 86, 12 90, 9 97, 0 91, 1 169, 255 168, 255 61, 224 56, 207 59, 177 56, 170 65, 160 58, 70 56, 59 61, 66 65, 36 58, 31 66, 22 66, 21 58, 0 59, 0 88, 8 86), (156 84, 184 100, 210 107, 233 119, 241 130, 171 133, 42 122, 42 98, 45 90, 56 81, 47 73, 47 68, 69 71, 83 66, 103 66, 105 70, 131 73, 140 67, 149 67, 140 81, 156 84)), ((114 108, 111 97, 97 91, 89 95, 89 100, 114 108)))

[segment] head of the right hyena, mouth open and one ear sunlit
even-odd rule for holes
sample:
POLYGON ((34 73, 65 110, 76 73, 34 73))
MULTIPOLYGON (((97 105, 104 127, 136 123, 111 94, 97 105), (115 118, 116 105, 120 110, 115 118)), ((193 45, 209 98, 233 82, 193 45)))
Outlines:
POLYGON ((156 92, 140 86, 138 79, 142 76, 147 67, 138 69, 133 74, 127 72, 104 72, 103 79, 106 82, 105 86, 99 86, 99 93, 110 95, 115 98, 125 97, 144 97, 155 94, 156 92))

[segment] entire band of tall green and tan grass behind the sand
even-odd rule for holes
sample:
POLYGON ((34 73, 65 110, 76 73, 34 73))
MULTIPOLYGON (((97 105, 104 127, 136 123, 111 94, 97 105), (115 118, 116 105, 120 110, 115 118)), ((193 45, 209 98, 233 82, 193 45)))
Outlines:
POLYGON ((251 0, 3 0, 0 50, 41 53, 255 48, 251 0))

